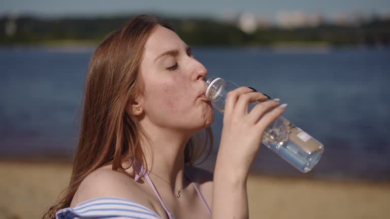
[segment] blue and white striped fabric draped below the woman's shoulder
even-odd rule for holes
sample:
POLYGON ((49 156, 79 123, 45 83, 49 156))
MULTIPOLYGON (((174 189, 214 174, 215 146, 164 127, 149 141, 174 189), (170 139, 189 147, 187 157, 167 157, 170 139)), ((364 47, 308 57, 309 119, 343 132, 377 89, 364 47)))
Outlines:
POLYGON ((151 209, 132 200, 117 197, 102 197, 79 203, 76 207, 63 208, 56 212, 57 219, 135 218, 161 219, 151 209))

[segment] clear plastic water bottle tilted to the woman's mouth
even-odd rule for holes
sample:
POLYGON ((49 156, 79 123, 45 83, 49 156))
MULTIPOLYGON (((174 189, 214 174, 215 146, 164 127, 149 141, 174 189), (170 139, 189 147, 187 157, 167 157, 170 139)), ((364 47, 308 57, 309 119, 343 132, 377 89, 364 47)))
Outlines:
MULTIPOLYGON (((233 82, 212 77, 206 81, 206 97, 223 113, 226 94, 237 88, 233 82)), ((248 112, 258 103, 250 103, 248 112)), ((319 141, 282 116, 266 129, 262 143, 304 173, 317 164, 323 153, 323 145, 319 141)))

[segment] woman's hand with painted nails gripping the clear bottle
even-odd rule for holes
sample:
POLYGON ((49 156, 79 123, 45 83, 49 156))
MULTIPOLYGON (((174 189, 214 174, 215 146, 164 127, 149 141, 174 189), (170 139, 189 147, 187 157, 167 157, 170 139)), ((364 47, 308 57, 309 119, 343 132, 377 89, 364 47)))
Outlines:
POLYGON ((267 99, 248 87, 237 88, 226 96, 217 163, 235 176, 247 177, 264 131, 284 112, 284 108, 276 107, 279 102, 267 99), (248 113, 248 104, 254 101, 261 103, 248 113))

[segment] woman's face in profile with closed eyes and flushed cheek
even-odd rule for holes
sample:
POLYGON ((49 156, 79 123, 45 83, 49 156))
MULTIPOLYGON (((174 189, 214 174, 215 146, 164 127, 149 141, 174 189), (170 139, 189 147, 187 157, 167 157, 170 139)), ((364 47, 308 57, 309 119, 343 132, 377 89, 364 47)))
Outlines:
POLYGON ((145 85, 145 117, 159 127, 198 132, 214 121, 204 94, 207 69, 194 59, 179 36, 157 26, 145 45, 141 62, 145 85))

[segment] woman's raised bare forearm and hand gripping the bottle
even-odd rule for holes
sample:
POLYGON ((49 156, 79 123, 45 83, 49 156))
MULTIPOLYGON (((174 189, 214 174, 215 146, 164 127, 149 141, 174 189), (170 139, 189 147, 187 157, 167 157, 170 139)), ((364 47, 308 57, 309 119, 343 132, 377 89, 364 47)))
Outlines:
POLYGON ((276 101, 247 87, 228 93, 214 170, 212 218, 248 218, 246 181, 266 128, 283 113, 276 101), (248 104, 257 104, 248 114, 248 104), (269 112, 269 113, 267 113, 269 112), (261 119, 260 119, 261 118, 261 119))

